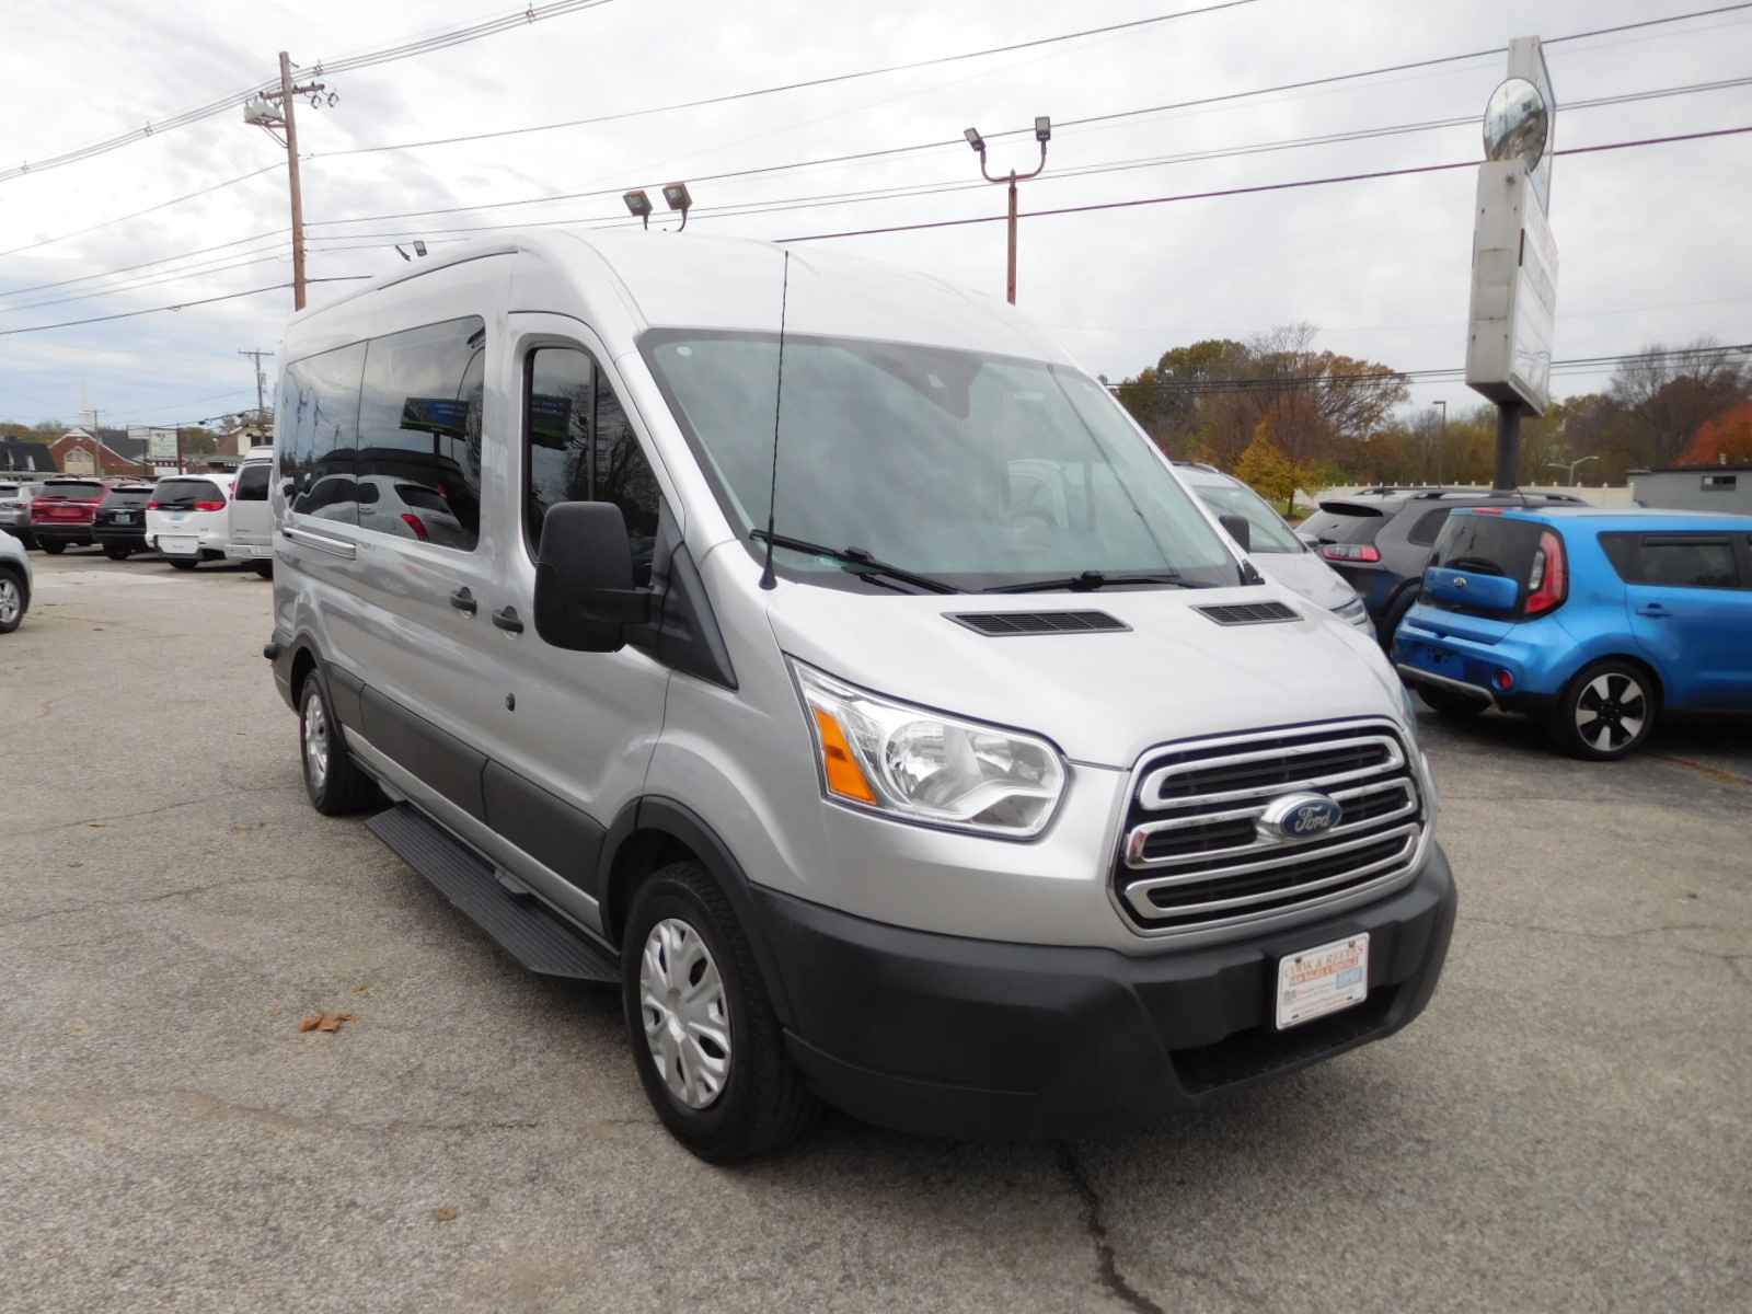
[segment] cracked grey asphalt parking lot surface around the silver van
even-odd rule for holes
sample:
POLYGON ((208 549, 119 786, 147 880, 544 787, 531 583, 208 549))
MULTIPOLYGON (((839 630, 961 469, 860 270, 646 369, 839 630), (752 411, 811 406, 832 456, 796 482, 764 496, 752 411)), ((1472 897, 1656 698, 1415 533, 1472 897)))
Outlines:
POLYGON ((1745 1310, 1752 727, 1424 718, 1407 1032, 1070 1144, 832 1118, 711 1169, 618 1000, 308 808, 272 585, 33 555, 0 636, 0 1309, 1745 1310), (300 1018, 352 1013, 338 1032, 300 1018))

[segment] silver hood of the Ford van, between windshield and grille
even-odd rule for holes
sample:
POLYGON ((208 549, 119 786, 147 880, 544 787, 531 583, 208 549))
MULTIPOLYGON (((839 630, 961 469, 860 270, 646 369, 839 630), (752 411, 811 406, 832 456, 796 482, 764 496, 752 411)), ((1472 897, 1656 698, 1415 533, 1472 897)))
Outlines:
POLYGON ((1034 731, 1090 766, 1153 745, 1346 717, 1405 727, 1400 682, 1361 632, 1275 585, 993 596, 871 596, 780 585, 783 652, 927 708, 1034 731), (1295 622, 1223 625, 1195 608, 1281 601, 1295 622), (1106 611, 1130 629, 992 638, 951 613, 1106 611))

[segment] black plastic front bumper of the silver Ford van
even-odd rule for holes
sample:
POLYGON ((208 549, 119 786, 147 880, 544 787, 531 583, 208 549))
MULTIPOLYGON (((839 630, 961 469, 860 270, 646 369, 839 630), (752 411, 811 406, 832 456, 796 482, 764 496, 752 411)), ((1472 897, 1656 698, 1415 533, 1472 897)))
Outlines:
POLYGON ((1456 911, 1437 846, 1367 908, 1149 957, 934 936, 752 894, 787 1044, 816 1093, 881 1127, 962 1139, 1121 1128, 1389 1035, 1430 1002, 1456 911), (1277 958, 1358 930, 1368 997, 1277 1032, 1277 958))

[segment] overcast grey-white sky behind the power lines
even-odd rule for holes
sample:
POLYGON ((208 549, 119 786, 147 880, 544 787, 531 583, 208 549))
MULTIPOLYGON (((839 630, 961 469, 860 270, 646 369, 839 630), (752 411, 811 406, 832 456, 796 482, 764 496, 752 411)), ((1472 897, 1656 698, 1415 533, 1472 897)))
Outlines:
MULTIPOLYGON (((703 109, 363 151, 652 110, 1212 2, 610 0, 436 54, 333 75, 326 81, 338 103, 300 107, 298 114, 308 273, 387 272, 401 265, 392 242, 406 247, 422 238, 440 249, 466 240, 454 230, 470 226, 624 223, 620 191, 643 186, 655 200, 657 187, 673 179, 692 180, 697 208, 690 230, 711 233, 788 238, 997 215, 1004 189, 983 184, 878 200, 844 194, 976 182, 978 159, 960 131, 969 124, 988 137, 1023 130, 1037 114, 1060 126, 1046 173, 1023 184, 1023 214, 1477 161, 1477 119, 1505 75, 1507 56, 1500 53, 1197 109, 1084 126, 1070 121, 1493 51, 1521 35, 1552 42, 1720 4, 1251 0, 1120 33, 703 109), (1172 159, 1447 119, 1463 123, 1172 159), (943 145, 815 163, 932 142, 943 145), (1132 161, 1158 163, 1086 172, 1132 161), (710 177, 762 168, 771 172, 710 177), (608 194, 540 201, 592 189, 608 194), (378 217, 526 200, 540 203, 378 217), (797 205, 715 214, 718 207, 774 203, 797 205)), ((277 74, 280 49, 298 65, 314 65, 513 9, 508 0, 7 5, 0 42, 7 149, 0 170, 242 91, 277 74)), ((1561 107, 1559 147, 1752 124, 1752 7, 1563 40, 1545 54, 1561 107), (1575 107, 1738 79, 1748 86, 1575 107)), ((992 144, 993 172, 1032 168, 1035 158, 1030 137, 992 144)), ((0 182, 0 331, 289 282, 284 159, 284 149, 263 130, 228 110, 95 159, 0 182), (231 182, 254 170, 266 172, 231 182), (194 200, 107 223, 228 182, 194 200), (96 224, 103 226, 44 242, 96 224), (131 273, 42 287, 124 268, 131 273), (154 282, 117 287, 123 279, 154 282), (74 296, 81 300, 63 300, 74 296)), ((1468 166, 1023 219, 1018 303, 1091 371, 1113 380, 1176 345, 1295 321, 1319 328, 1319 347, 1398 370, 1459 366, 1473 186, 1468 166)), ((1554 356, 1607 356, 1698 336, 1752 340, 1748 215, 1752 133, 1559 158, 1551 201, 1561 251, 1554 356)), ((1004 291, 1000 223, 851 237, 832 245, 1004 291)), ((317 284, 312 301, 343 287, 317 284)), ((251 406, 251 364, 237 352, 273 349, 289 314, 291 293, 270 291, 173 314, 0 336, 0 419, 72 420, 81 389, 103 424, 187 424, 251 406)), ((1586 392, 1605 382, 1603 373, 1561 377, 1554 392, 1586 392)), ((1477 399, 1463 384, 1419 384, 1412 392, 1419 406, 1437 398, 1456 408, 1477 399)))

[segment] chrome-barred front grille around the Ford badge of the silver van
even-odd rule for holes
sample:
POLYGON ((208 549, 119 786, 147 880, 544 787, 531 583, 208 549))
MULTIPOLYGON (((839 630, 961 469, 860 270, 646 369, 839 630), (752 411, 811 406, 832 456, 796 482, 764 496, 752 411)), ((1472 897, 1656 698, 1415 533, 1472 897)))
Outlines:
POLYGON ((1388 722, 1339 722, 1176 745, 1135 773, 1114 864, 1120 908, 1167 934, 1258 922, 1391 885, 1410 872, 1428 816, 1417 767, 1388 722), (1339 820, 1312 839, 1261 825, 1312 790, 1339 820))

